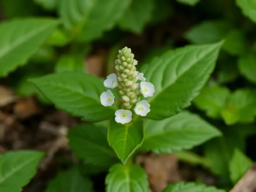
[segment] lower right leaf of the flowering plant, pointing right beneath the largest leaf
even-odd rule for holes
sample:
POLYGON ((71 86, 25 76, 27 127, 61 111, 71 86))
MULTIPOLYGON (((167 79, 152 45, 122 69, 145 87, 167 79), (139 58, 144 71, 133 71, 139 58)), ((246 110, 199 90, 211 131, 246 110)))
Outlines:
POLYGON ((144 141, 140 149, 172 153, 190 149, 220 135, 218 129, 199 116, 181 112, 162 121, 146 120, 144 141))

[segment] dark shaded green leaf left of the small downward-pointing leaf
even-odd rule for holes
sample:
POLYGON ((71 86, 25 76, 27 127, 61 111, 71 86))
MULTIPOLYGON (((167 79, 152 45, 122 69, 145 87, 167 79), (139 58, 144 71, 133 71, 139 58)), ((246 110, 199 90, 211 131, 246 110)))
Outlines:
POLYGON ((78 125, 68 133, 69 145, 84 163, 111 167, 118 162, 107 141, 107 129, 97 125, 78 125))

